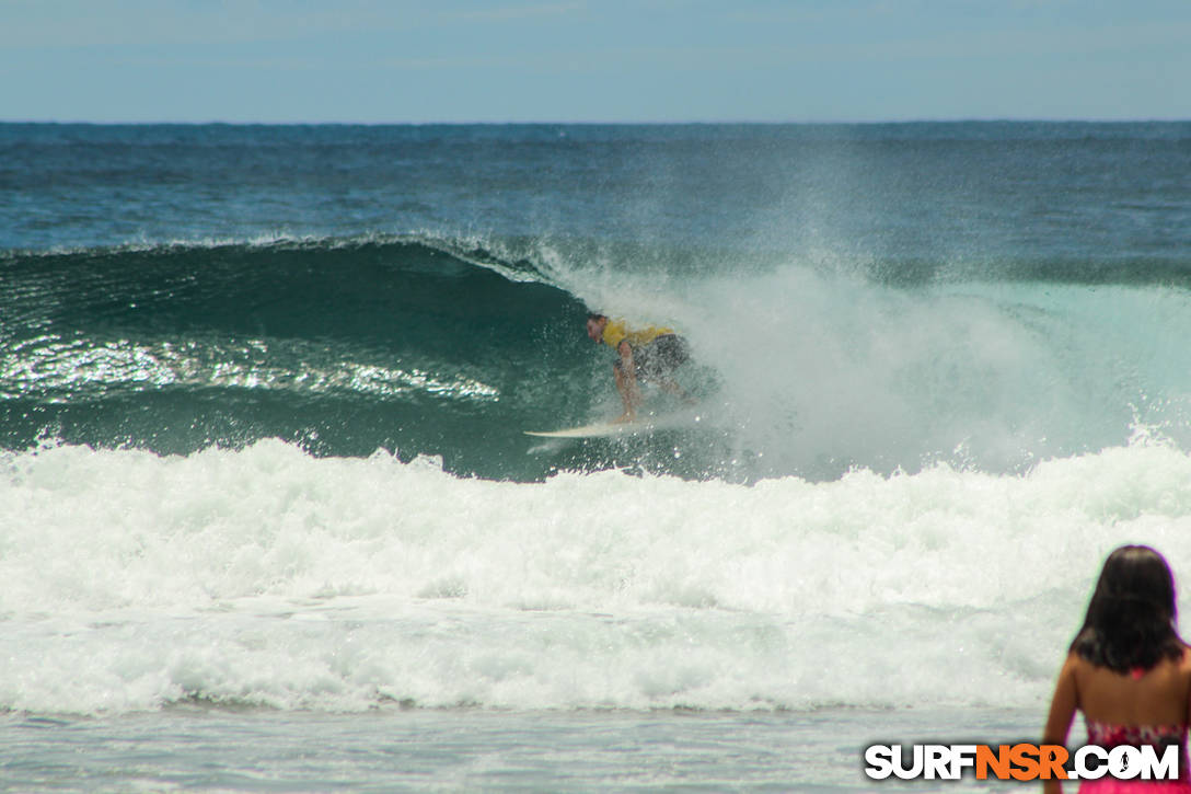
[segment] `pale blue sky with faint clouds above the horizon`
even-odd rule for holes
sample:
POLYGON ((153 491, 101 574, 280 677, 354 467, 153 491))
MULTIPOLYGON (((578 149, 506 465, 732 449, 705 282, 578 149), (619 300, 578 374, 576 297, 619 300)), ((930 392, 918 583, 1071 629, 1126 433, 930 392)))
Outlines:
POLYGON ((0 120, 1189 119, 1189 0, 0 0, 0 120))

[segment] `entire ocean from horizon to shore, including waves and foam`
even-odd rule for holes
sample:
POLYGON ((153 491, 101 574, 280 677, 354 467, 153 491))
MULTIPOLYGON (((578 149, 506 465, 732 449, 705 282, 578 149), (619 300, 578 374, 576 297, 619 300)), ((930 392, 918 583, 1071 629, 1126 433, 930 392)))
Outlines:
POLYGON ((0 124, 0 788, 1036 738, 1108 552, 1191 577, 1189 337, 1191 123, 0 124), (696 405, 525 435, 593 310, 696 405))

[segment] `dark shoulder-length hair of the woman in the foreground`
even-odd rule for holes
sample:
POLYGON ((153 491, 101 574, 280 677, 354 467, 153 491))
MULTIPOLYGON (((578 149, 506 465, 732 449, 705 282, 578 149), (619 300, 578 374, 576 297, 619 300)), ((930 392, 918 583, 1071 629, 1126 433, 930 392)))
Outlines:
POLYGON ((1174 576, 1149 546, 1122 546, 1104 560, 1071 652, 1114 672, 1148 670, 1183 656, 1174 628, 1174 576))

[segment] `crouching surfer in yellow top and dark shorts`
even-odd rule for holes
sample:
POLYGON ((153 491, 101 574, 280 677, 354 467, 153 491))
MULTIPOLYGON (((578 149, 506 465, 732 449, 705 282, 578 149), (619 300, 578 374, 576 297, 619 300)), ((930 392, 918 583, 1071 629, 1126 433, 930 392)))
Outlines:
POLYGON ((616 351, 618 358, 612 365, 616 390, 624 402, 624 414, 617 422, 631 422, 641 407, 640 382, 656 383, 672 395, 690 402, 669 374, 691 358, 686 340, 671 328, 646 325, 630 329, 623 320, 609 320, 606 315, 587 315, 587 336, 593 342, 603 342, 616 351))

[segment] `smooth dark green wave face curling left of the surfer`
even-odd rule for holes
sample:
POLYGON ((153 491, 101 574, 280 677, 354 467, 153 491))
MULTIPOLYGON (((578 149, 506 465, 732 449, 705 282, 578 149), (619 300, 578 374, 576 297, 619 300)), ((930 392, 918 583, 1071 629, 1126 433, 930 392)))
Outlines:
MULTIPOLYGON (((411 241, 12 256, 0 442, 188 453, 261 438, 537 477, 522 430, 585 409, 566 292, 411 241), (526 465, 510 466, 515 464, 526 465)), ((529 278, 530 274, 520 273, 529 278)))

